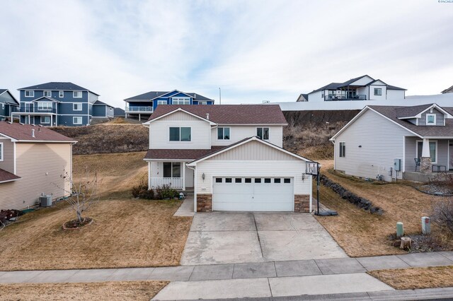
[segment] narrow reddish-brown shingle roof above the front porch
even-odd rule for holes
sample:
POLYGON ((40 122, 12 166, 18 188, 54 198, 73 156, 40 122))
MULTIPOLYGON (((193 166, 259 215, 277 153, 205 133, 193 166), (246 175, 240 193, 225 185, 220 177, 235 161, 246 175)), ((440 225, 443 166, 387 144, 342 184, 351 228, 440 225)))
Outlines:
POLYGON ((229 146, 212 146, 210 149, 150 149, 145 159, 195 160, 229 146))

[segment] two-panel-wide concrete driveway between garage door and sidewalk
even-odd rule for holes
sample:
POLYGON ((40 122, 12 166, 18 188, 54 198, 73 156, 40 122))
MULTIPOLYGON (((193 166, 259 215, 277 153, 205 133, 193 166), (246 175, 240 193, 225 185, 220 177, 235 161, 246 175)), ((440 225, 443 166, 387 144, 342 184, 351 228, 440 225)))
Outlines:
POLYGON ((348 257, 306 213, 195 213, 181 265, 348 257))

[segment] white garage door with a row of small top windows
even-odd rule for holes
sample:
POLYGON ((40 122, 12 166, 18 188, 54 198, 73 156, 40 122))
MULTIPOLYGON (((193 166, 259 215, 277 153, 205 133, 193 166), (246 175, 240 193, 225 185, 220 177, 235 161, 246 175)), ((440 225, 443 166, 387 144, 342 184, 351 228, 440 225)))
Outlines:
POLYGON ((293 211, 292 178, 214 177, 214 211, 293 211))

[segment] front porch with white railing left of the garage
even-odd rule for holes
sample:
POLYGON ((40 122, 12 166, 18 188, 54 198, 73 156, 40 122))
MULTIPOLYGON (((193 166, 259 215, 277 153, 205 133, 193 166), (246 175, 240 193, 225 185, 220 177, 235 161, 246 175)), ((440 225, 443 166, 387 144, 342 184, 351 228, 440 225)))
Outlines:
POLYGON ((173 189, 193 189, 193 170, 185 166, 190 161, 148 161, 148 187, 169 185, 173 189))

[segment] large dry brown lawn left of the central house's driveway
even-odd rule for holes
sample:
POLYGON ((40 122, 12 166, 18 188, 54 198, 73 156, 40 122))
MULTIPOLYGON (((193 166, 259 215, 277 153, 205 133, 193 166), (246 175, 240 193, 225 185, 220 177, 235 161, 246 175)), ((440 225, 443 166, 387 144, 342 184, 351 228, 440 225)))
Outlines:
POLYGON ((175 217, 180 201, 132 199, 130 188, 142 177, 144 153, 74 157, 98 171, 101 201, 86 216, 91 225, 62 230, 74 219, 66 203, 22 216, 0 231, 2 271, 176 266, 192 218, 175 217))

